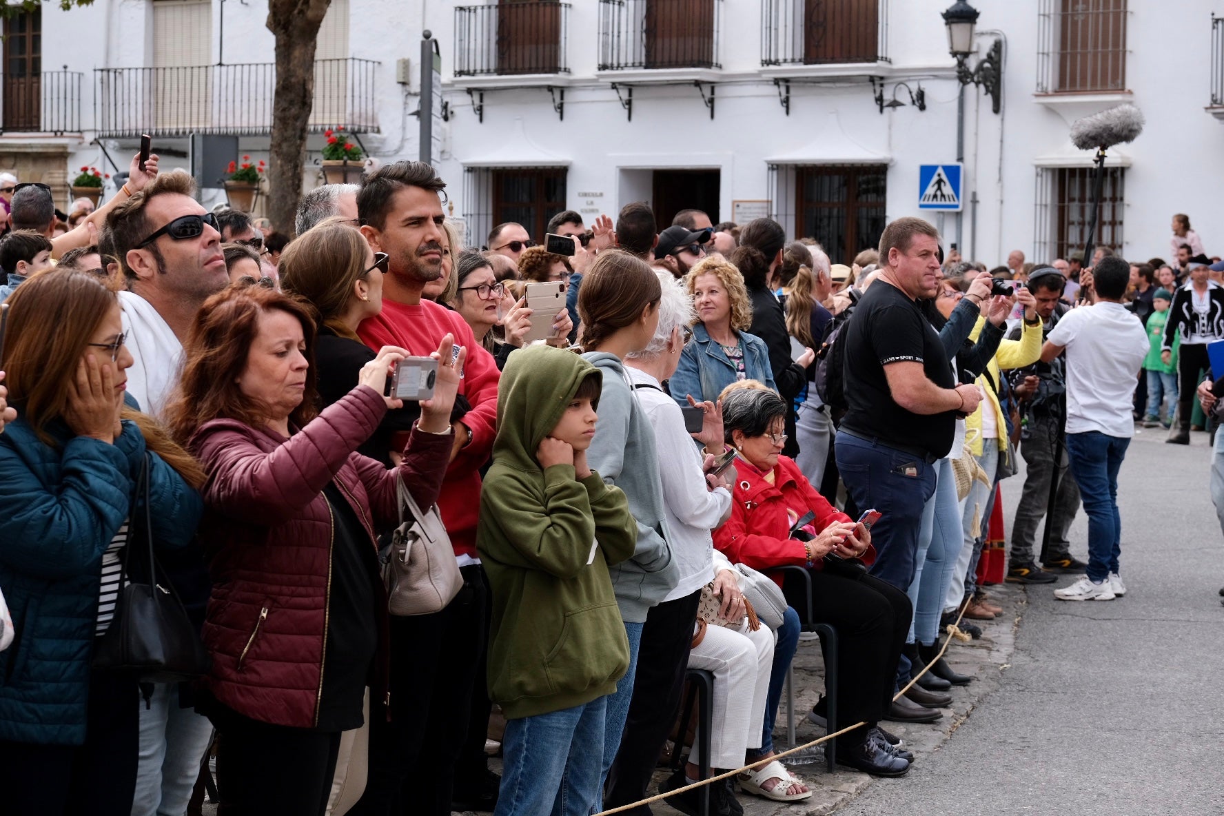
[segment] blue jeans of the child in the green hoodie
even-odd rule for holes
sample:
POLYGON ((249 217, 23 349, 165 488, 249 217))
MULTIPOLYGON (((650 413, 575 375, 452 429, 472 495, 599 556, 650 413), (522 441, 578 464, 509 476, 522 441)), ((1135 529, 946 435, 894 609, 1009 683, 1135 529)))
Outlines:
POLYGON ((506 721, 497 816, 588 816, 600 801, 608 697, 506 721))

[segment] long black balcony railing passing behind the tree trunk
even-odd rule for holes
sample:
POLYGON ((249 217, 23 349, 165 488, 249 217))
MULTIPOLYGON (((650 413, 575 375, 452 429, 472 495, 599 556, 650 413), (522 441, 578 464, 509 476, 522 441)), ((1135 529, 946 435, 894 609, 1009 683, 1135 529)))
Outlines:
MULTIPOLYGON (((375 70, 355 57, 315 62, 310 130, 344 125, 378 131, 375 70)), ((163 69, 95 69, 98 136, 262 135, 272 131, 277 67, 272 62, 163 69)))

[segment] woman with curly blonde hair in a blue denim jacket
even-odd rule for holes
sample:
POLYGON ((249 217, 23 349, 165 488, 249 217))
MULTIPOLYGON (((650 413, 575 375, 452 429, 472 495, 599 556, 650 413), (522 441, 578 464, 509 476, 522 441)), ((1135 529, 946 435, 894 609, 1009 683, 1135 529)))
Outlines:
POLYGON ((688 405, 689 395, 712 402, 723 388, 743 379, 775 388, 769 349, 747 332, 753 305, 734 264, 718 254, 705 258, 689 270, 684 285, 693 296, 696 322, 668 384, 672 399, 681 406, 688 405))

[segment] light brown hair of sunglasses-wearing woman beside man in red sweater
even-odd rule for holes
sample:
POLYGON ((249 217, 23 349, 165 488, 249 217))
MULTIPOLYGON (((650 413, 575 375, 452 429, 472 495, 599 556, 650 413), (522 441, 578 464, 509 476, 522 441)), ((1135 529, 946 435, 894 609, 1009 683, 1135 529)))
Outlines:
POLYGON ((313 307, 321 323, 356 340, 343 317, 354 284, 366 275, 365 236, 343 218, 329 218, 294 239, 280 253, 280 286, 313 307))

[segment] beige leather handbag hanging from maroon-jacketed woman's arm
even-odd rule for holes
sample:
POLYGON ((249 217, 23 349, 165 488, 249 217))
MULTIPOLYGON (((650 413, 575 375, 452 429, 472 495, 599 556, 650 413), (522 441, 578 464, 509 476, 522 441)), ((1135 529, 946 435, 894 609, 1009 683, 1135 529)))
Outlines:
POLYGON ((388 612, 393 615, 441 612, 463 588, 450 536, 438 505, 422 511, 404 487, 404 480, 398 480, 397 492, 399 526, 392 533, 390 553, 383 566, 388 612))

